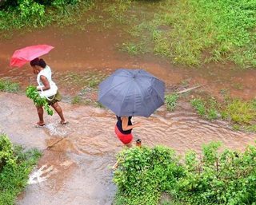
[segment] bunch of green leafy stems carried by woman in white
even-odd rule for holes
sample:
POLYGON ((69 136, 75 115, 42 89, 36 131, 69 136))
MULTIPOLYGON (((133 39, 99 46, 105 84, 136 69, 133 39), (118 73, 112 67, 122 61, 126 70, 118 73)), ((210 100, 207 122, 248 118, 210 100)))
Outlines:
POLYGON ((40 97, 36 87, 31 85, 28 86, 26 88, 26 97, 29 97, 31 100, 33 100, 35 105, 43 106, 48 115, 52 116, 54 114, 54 111, 50 108, 46 98, 40 97))

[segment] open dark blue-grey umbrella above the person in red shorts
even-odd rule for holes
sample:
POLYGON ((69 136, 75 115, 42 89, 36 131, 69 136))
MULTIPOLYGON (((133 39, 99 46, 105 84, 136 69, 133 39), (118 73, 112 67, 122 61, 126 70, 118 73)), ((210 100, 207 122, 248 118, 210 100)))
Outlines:
POLYGON ((165 83, 142 69, 118 69, 99 85, 98 101, 117 116, 150 116, 164 104, 165 83))

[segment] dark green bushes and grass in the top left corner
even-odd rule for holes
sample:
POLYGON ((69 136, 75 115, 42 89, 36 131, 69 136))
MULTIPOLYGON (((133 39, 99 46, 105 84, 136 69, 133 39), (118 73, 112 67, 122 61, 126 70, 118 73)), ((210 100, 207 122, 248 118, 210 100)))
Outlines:
POLYGON ((93 6, 93 1, 2 1, 0 4, 0 34, 10 38, 14 30, 44 26, 76 25, 93 6), (79 12, 78 12, 79 10, 79 12), (10 31, 10 32, 7 32, 10 31))

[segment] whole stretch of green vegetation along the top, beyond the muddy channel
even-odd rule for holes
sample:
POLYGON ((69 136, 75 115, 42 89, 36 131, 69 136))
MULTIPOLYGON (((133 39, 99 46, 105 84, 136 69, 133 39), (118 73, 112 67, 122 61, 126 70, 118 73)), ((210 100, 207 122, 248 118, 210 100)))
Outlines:
MULTIPOLYGON (((89 24, 97 24, 99 30, 118 26, 130 36, 118 49, 133 55, 154 53, 194 67, 226 61, 241 68, 256 65, 254 0, 54 0, 44 4, 22 0, 6 5, 0 7, 1 31, 49 25, 81 30, 89 24)), ((2 37, 10 35, 2 32, 2 37)))

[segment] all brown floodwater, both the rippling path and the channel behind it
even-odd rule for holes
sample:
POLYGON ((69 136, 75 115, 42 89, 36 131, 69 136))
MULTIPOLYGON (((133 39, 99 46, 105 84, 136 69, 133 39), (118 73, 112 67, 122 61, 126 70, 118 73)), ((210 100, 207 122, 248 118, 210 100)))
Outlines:
MULTIPOLYGON (((122 37, 126 36, 118 27, 98 31, 96 26, 88 26, 84 31, 51 27, 16 33, 12 39, 0 41, 0 78, 17 81, 24 87, 34 84, 30 66, 11 69, 10 56, 15 49, 26 45, 49 44, 55 49, 44 58, 65 95, 81 89, 62 82, 62 76, 70 71, 110 74, 118 68, 142 68, 161 78, 170 88, 186 81, 190 86, 203 85, 202 89, 215 96, 225 89, 234 97, 254 97, 256 70, 236 70, 230 64, 192 69, 149 54, 133 57, 118 51, 122 37)), ((116 120, 112 112, 61 103, 70 124, 61 126, 54 114, 45 116, 46 128, 34 128, 38 116, 33 103, 24 95, 0 93, 0 104, 0 132, 6 132, 15 143, 39 148, 44 153, 17 204, 111 204, 116 187, 109 167, 114 164, 116 153, 122 150, 114 135, 116 120)), ((141 138, 142 144, 148 146, 166 145, 181 155, 190 149, 200 153, 202 144, 213 140, 237 150, 254 144, 255 134, 234 132, 226 122, 202 120, 187 104, 179 104, 173 113, 164 110, 160 108, 150 118, 134 117, 134 121, 142 122, 142 127, 134 129, 135 139, 141 138)))

